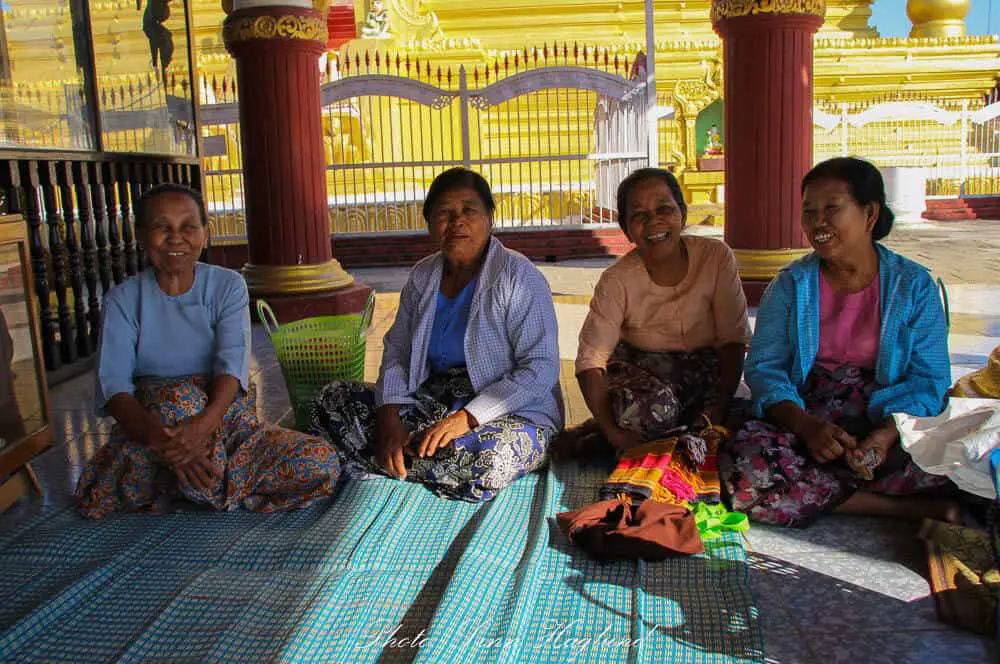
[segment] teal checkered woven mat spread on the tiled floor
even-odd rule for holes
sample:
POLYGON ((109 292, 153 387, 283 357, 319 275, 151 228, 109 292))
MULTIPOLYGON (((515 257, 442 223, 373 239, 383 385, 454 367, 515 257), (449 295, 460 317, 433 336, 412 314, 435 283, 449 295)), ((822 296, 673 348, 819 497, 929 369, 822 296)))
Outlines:
POLYGON ((599 565, 554 515, 600 469, 474 505, 346 482, 283 514, 49 512, 0 534, 0 661, 761 662, 745 554, 599 565))

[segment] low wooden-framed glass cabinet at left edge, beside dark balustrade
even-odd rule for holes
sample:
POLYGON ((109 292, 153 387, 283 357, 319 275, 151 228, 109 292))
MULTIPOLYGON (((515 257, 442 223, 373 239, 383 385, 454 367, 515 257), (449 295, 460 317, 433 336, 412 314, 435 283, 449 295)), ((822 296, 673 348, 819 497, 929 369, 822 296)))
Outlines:
POLYGON ((41 493, 30 462, 52 445, 24 219, 0 215, 0 512, 41 493))

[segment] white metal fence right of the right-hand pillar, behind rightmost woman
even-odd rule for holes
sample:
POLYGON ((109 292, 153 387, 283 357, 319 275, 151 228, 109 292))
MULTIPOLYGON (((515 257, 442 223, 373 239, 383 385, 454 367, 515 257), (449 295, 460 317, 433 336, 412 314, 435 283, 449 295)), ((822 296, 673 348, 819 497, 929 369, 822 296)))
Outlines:
POLYGON ((819 103, 814 158, 856 155, 880 167, 926 169, 927 195, 1000 194, 1000 95, 975 101, 892 94, 819 103))

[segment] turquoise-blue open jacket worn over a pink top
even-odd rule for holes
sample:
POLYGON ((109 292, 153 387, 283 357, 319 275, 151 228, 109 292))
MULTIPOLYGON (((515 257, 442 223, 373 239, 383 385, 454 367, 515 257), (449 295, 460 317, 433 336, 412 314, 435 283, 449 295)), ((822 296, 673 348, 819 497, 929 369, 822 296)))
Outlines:
MULTIPOLYGON (((892 413, 937 415, 951 384, 937 284, 924 266, 875 246, 882 328, 868 417, 880 422, 892 413)), ((782 269, 761 299, 746 363, 757 417, 781 401, 804 407, 801 390, 818 350, 819 257, 812 253, 782 269)))

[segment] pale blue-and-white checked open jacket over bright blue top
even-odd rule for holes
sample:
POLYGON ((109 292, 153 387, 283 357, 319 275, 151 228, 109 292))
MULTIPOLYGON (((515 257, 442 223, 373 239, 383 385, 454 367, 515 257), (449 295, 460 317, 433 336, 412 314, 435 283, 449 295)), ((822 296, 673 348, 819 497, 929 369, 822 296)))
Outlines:
MULTIPOLYGON (((385 335, 376 405, 414 402, 430 377, 427 347, 444 256, 417 263, 385 335)), ((490 238, 465 331, 465 360, 476 396, 465 409, 481 424, 519 415, 555 432, 562 427, 559 333, 548 282, 521 254, 490 238)))

